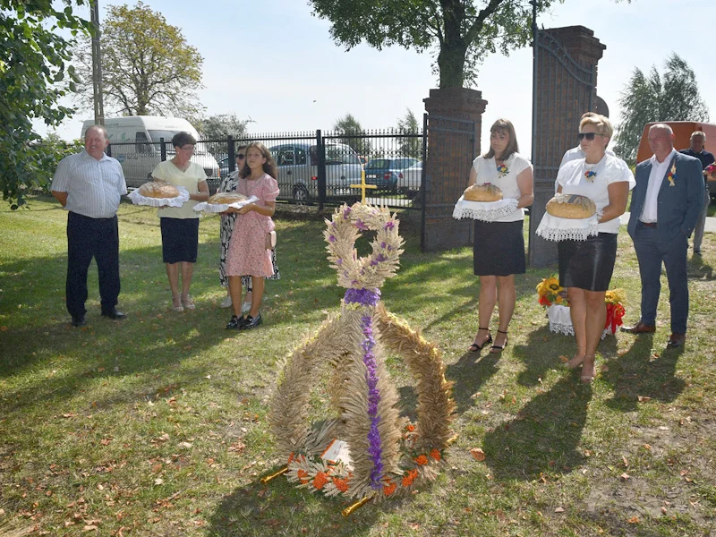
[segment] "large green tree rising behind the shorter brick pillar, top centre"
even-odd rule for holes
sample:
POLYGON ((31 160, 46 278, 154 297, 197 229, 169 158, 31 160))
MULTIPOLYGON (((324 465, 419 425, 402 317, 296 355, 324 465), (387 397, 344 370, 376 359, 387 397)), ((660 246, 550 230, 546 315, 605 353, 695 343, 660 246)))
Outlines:
MULTIPOLYGON (((536 1, 538 12, 564 2, 536 1)), ((485 55, 498 50, 507 55, 532 39, 529 0, 309 0, 309 5, 331 22, 331 36, 349 50, 362 41, 379 50, 437 49, 433 70, 440 88, 470 85, 485 55)))

